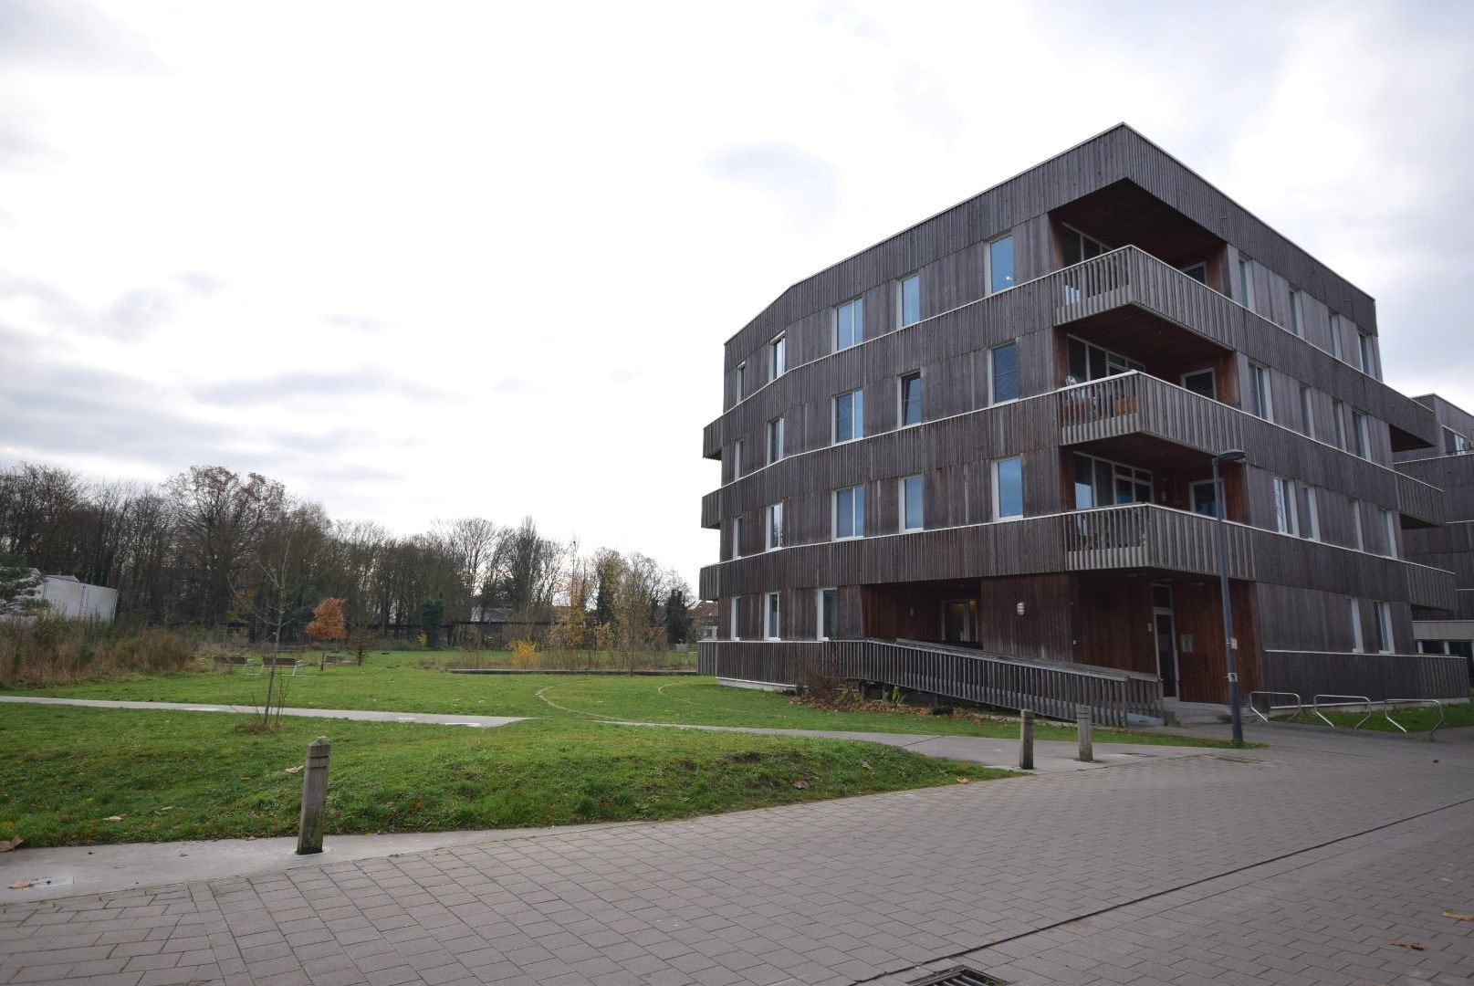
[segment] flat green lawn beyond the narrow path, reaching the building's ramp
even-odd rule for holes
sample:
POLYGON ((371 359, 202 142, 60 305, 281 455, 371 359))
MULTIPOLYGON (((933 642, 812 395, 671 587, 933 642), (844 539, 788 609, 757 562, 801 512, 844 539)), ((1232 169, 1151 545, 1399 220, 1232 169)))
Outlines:
MULTIPOLYGON (((448 654, 436 654, 442 659, 448 654)), ((965 716, 935 716, 902 707, 898 712, 827 712, 797 704, 790 696, 727 688, 706 676, 626 675, 451 675, 422 668, 425 651, 374 653, 363 668, 304 668, 286 678, 286 704, 308 709, 382 709, 539 716, 553 721, 595 718, 693 725, 777 727, 787 730, 849 730, 862 732, 940 732, 957 735, 1017 735, 1011 722, 977 722, 965 716)), ((280 678, 279 678, 280 681, 280 678)), ((56 688, 12 690, 74 699, 134 702, 208 702, 261 704, 265 678, 240 672, 187 671, 140 675, 124 681, 56 688)), ((1041 740, 1073 740, 1075 728, 1041 722, 1041 740)), ((1097 743, 1160 743, 1170 746, 1229 746, 1129 730, 1097 728, 1097 743)))

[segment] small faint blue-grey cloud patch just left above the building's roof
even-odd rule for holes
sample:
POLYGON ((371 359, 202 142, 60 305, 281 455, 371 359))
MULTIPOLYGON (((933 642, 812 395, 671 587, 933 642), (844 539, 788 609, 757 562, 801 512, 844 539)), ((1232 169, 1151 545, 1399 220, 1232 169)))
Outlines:
POLYGON ((786 141, 740 144, 702 162, 706 174, 771 199, 799 230, 814 230, 839 212, 839 168, 786 141))

